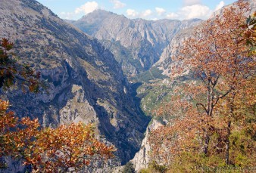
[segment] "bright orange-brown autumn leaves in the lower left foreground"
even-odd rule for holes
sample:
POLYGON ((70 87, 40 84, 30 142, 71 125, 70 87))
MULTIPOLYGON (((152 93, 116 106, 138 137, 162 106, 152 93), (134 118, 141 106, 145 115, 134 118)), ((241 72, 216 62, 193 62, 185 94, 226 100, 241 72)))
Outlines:
POLYGON ((97 141, 92 125, 83 123, 42 128, 38 119, 18 119, 0 100, 0 157, 12 156, 34 171, 79 171, 90 162, 108 159, 113 147, 97 141))

